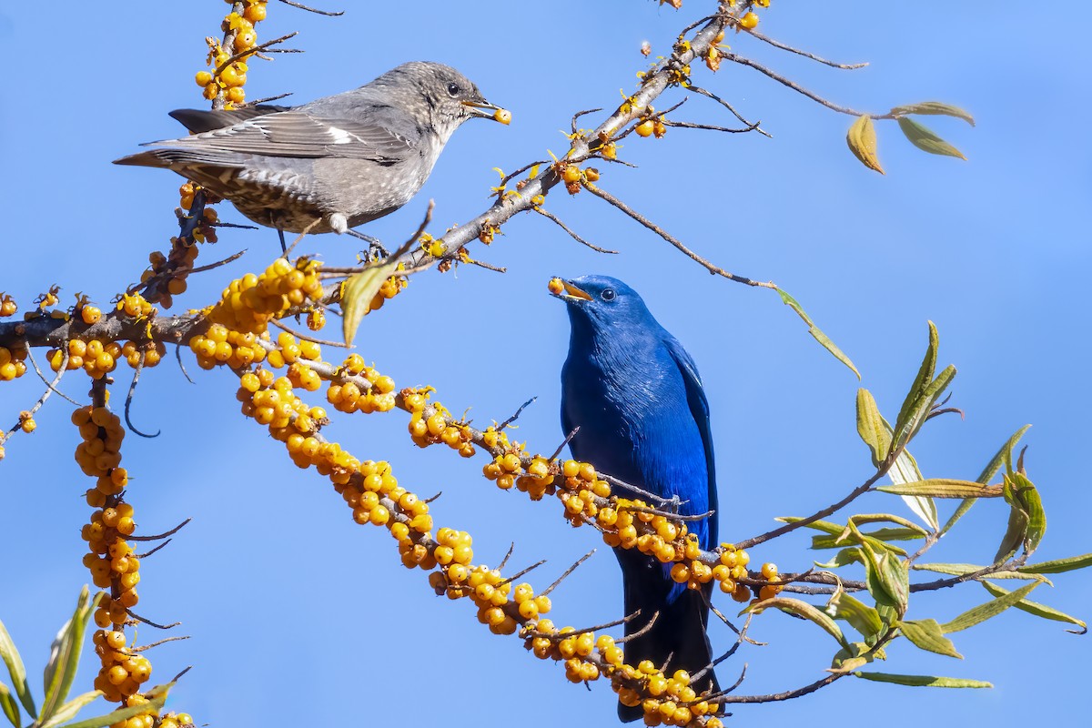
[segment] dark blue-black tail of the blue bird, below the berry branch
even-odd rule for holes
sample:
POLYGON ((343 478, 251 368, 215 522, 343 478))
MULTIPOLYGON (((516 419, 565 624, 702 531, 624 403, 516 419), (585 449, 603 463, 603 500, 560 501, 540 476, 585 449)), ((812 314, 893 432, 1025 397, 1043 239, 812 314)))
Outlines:
MULTIPOLYGON (((692 676, 705 668, 712 660, 712 647, 705 635, 709 620, 708 599, 712 583, 707 584, 704 595, 676 584, 663 564, 632 550, 615 549, 621 565, 625 583, 626 616, 640 610, 641 613, 626 623, 626 636, 643 634, 627 640, 626 663, 637 667, 641 660, 652 660, 657 668, 664 668, 670 678, 676 670, 686 670, 692 676), (658 616, 649 626, 653 614, 658 616), (668 660, 668 658, 670 658, 668 660)), ((721 687, 712 669, 705 671, 690 687, 699 695, 720 692, 721 687)), ((644 716, 640 705, 618 704, 618 717, 622 723, 638 720, 644 716)))

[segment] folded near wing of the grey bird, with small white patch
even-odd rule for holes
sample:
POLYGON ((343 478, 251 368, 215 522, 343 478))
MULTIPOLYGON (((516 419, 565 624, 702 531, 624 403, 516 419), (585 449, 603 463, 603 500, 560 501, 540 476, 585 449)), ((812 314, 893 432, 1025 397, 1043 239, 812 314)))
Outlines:
POLYGON ((342 157, 394 164, 416 154, 418 139, 376 121, 328 119, 306 111, 276 111, 185 139, 153 142, 197 153, 270 157, 342 157))

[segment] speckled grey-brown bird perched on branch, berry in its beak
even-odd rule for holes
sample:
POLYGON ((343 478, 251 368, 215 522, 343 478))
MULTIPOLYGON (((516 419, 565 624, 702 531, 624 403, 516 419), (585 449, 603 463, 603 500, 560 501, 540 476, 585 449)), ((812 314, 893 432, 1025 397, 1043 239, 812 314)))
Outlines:
POLYGON ((193 132, 115 159, 164 167, 284 232, 345 232, 406 204, 451 134, 473 117, 508 123, 453 68, 413 61, 297 107, 250 106, 170 116, 193 132))

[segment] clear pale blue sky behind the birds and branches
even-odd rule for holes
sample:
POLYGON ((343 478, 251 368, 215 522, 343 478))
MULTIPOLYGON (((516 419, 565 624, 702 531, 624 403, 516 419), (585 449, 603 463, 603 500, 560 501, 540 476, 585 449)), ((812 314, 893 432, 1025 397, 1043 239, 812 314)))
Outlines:
MULTIPOLYGON (((364 228, 397 243, 416 228, 429 198, 437 202, 430 230, 439 235, 486 208, 497 180, 492 167, 510 171, 547 150, 562 152, 559 130, 568 129, 573 111, 614 108, 619 88, 634 88, 634 73, 646 64, 642 40, 654 56, 666 53, 677 32, 713 5, 686 0, 675 11, 651 0, 404 0, 341 2, 330 7, 348 12, 331 19, 272 2, 260 38, 299 31, 294 45, 307 52, 253 62, 247 89, 251 98, 290 91, 292 100, 302 103, 403 61, 429 59, 459 68, 487 98, 511 109, 511 127, 475 121, 462 128, 420 195, 364 228)), ((140 142, 177 135, 170 109, 201 107, 192 77, 204 68, 203 38, 219 35, 226 7, 212 0, 123 10, 74 3, 50 20, 33 3, 0 10, 0 53, 12 74, 0 102, 0 290, 13 294, 21 311, 54 283, 63 287, 64 305, 76 291, 107 305, 139 277, 149 252, 165 248, 177 229, 181 179, 109 163, 140 142)), ((663 140, 624 142, 619 156, 638 169, 598 165, 604 189, 701 254, 796 296, 852 357, 889 418, 917 370, 926 321, 934 321, 940 363, 959 368, 951 404, 966 418, 930 421, 913 452, 927 477, 973 479, 1014 430, 1033 423, 1024 440, 1026 466, 1049 523, 1036 560, 1092 551, 1090 22, 1092 10, 1080 3, 1014 11, 978 0, 914 8, 774 2, 760 31, 870 65, 838 71, 748 37, 728 38, 733 50, 855 108, 883 111, 931 99, 962 106, 975 115, 975 129, 956 119, 923 120, 970 160, 926 155, 893 122, 879 123, 888 172, 881 177, 847 151, 850 117, 725 63, 715 75, 696 65, 696 82, 760 119, 773 139, 670 130, 663 140)), ((672 91, 657 106, 681 96, 672 91)), ((733 123, 697 97, 673 118, 733 123)), ((507 266, 507 274, 464 266, 415 276, 364 322, 358 351, 399 386, 430 384, 453 411, 473 407, 478 425, 502 420, 537 395, 518 437, 548 454, 561 439, 558 377, 568 320, 546 282, 554 274, 606 273, 643 295, 702 372, 723 539, 763 532, 779 515, 807 515, 868 477, 867 450, 854 426, 858 382, 773 293, 712 278, 587 193, 570 199, 556 191, 547 207, 621 254, 595 253, 544 218, 520 216, 491 248, 472 250, 507 266)), ((246 222, 226 204, 221 215, 246 222)), ((268 265, 275 234, 224 230, 199 263, 244 248, 242 260, 191 278, 174 312, 203 307, 230 278, 268 265)), ((351 262, 355 250, 353 240, 332 235, 300 248, 332 264, 351 262)), ((341 354, 327 349, 327 356, 341 354)), ((192 635, 150 655, 153 682, 193 666, 173 692, 174 708, 201 724, 239 727, 397 719, 448 726, 515 719, 525 728, 614 724, 606 684, 586 691, 566 682, 559 665, 534 659, 518 639, 489 634, 468 601, 435 597, 423 572, 400 564, 384 530, 356 526, 323 478, 297 470, 263 428, 238 414, 230 372, 201 371, 188 351, 183 359, 195 384, 171 356, 144 373, 133 404, 136 426, 163 435, 130 435, 122 450, 143 533, 193 518, 141 570, 139 611, 158 622, 181 621, 177 632, 192 635)), ((119 372, 115 402, 123 398, 127 372, 119 372)), ((33 374, 0 385, 7 426, 41 389, 33 374)), ((62 389, 83 398, 86 380, 69 377, 62 389)), ((12 438, 0 464, 0 619, 34 678, 90 581, 79 532, 91 484, 72 460, 78 435, 70 411, 54 397, 37 417, 37 432, 12 438)), ((470 530, 476 561, 497 563, 513 541, 511 566, 548 559, 530 575, 538 589, 598 547, 555 592, 550 617, 575 626, 620 617, 617 566, 592 529, 567 526, 556 501, 532 504, 499 491, 482 478, 482 456, 464 461, 443 446, 418 451, 405 422, 401 411, 356 415, 327 434, 361 458, 391 461, 411 490, 442 490, 432 508, 436 523, 470 530)), ((889 496, 863 499, 855 512, 881 510, 909 514, 889 496)), ((941 504, 942 517, 950 512, 941 504)), ((935 549, 935 560, 986 562, 1006 518, 1002 503, 977 504, 935 549)), ((814 558, 826 559, 806 550, 808 544, 809 534, 779 539, 756 548, 752 561, 804 570, 814 558)), ((1055 583, 1033 598, 1092 616, 1092 577, 1077 572, 1055 583)), ((972 585, 915 597, 910 617, 946 621, 986 596, 972 585)), ((734 602, 719 604, 734 611, 734 602)), ((773 612, 756 621, 751 635, 769 645, 741 649, 719 669, 731 683, 746 663, 740 692, 749 694, 818 679, 835 651, 812 625, 773 612)), ((149 628, 139 632, 141 643, 161 637, 149 628)), ((711 637, 714 648, 732 643, 723 625, 714 625, 711 637)), ((740 707, 735 724, 836 714, 882 716, 889 728, 1049 725, 1084 709, 1090 637, 1011 611, 953 640, 962 661, 900 640, 875 669, 988 680, 994 690, 846 679, 787 703, 740 707)), ((90 689, 91 657, 80 690, 90 689)))

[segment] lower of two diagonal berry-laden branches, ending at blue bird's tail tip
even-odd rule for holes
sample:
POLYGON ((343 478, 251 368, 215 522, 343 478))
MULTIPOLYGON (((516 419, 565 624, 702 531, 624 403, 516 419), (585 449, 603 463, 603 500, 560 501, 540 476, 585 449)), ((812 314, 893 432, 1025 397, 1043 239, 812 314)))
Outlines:
MULTIPOLYGON (((351 355, 351 359, 353 357, 359 358, 359 355, 351 355)), ((354 365, 346 363, 346 369, 355 369, 354 365)), ((388 389, 379 379, 377 377, 369 384, 388 389)), ((387 527, 399 544, 403 564, 430 571, 429 584, 438 595, 447 595, 450 599, 468 597, 478 607, 478 620, 488 624, 495 634, 514 634, 521 625, 526 625, 521 636, 527 648, 543 659, 563 660, 566 676, 573 682, 606 676, 619 692, 619 699, 628 704, 641 704, 642 700, 651 697, 653 703, 645 706, 646 712, 655 713, 668 725, 720 728, 720 719, 712 715, 716 712, 715 704, 702 700, 687 687, 689 677, 685 672, 678 671, 667 678, 651 663, 628 666, 613 637, 577 632, 572 628, 556 630, 550 620, 542 617, 551 609, 546 594, 535 596, 533 587, 526 583, 513 586, 515 578, 538 564, 506 578, 497 569, 472 564, 474 551, 470 534, 440 528, 434 538, 428 504, 397 485, 388 463, 361 462, 328 441, 320 433, 327 423, 324 414, 295 395, 298 384, 290 377, 274 378, 270 370, 258 368, 240 371, 239 384, 244 414, 266 425, 271 435, 285 444, 297 466, 314 467, 328 476, 352 509, 354 521, 387 527), (269 416, 262 414, 266 409, 269 416), (601 657, 593 656, 594 651, 598 651, 601 657), (654 699, 664 693, 677 699, 654 699)), ((413 396, 413 393, 405 396, 413 396)), ((562 574, 562 578, 571 571, 562 574)))

